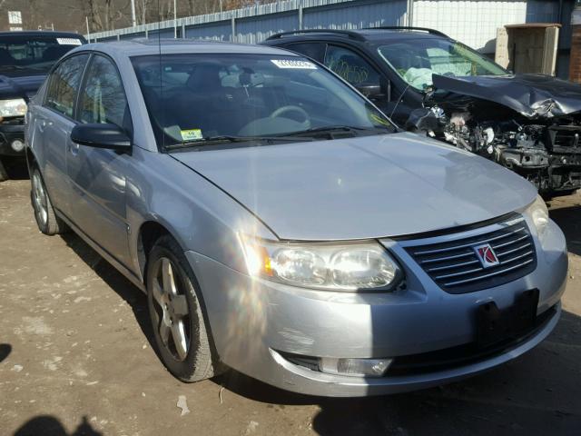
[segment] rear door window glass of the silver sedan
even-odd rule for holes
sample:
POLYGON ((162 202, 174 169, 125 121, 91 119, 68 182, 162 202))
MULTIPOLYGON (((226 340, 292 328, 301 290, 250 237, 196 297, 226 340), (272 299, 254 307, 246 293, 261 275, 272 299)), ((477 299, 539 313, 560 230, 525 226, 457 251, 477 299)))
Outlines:
POLYGON ((69 118, 74 115, 74 100, 79 90, 88 54, 65 59, 51 74, 44 105, 69 118))

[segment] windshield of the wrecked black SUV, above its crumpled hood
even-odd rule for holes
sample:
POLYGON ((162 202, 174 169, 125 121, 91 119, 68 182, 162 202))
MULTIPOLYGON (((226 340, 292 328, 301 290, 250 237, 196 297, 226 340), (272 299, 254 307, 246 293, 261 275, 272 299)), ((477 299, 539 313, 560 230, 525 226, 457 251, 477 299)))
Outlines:
POLYGON ((432 74, 508 74, 507 70, 484 55, 448 39, 415 38, 397 44, 379 45, 378 52, 403 80, 421 91, 432 84, 432 74))

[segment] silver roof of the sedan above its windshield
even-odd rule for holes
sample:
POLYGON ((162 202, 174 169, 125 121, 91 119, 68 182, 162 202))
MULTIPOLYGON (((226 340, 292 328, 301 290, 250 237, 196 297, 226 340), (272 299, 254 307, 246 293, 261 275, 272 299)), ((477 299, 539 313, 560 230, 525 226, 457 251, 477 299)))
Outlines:
MULTIPOLYGON (((264 45, 234 44, 221 41, 195 39, 160 39, 139 38, 131 40, 113 41, 107 43, 93 43, 77 47, 73 52, 94 50, 105 54, 125 56, 141 56, 148 54, 278 54, 300 56, 287 50, 264 45)), ((71 53, 73 53, 71 52, 71 53)))

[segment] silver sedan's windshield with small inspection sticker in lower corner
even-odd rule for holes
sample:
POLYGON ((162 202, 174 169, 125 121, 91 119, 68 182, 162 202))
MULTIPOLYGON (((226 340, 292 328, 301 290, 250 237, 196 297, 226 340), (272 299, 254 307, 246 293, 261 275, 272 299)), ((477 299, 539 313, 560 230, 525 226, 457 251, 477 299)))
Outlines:
POLYGON ((265 54, 164 54, 133 66, 159 144, 309 135, 349 127, 394 131, 347 84, 302 57, 265 54))

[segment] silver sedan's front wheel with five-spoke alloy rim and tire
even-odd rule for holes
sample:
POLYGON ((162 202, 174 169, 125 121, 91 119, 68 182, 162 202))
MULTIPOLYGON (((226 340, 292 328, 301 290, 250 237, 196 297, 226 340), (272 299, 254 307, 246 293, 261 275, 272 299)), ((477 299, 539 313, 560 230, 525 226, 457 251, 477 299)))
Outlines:
POLYGON ((171 236, 162 236, 153 245, 146 277, 147 306, 165 367, 186 382, 216 375, 200 288, 182 248, 171 236))

